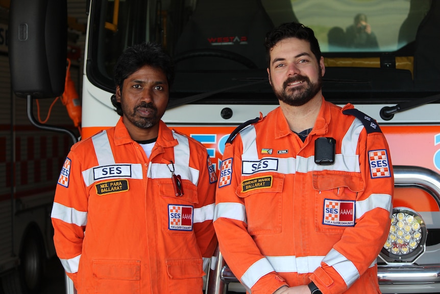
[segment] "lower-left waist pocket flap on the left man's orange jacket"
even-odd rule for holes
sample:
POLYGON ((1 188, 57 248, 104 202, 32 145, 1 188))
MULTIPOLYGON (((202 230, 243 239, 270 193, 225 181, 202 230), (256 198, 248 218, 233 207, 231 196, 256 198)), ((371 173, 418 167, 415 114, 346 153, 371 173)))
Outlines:
POLYGON ((137 281, 140 278, 138 260, 93 260, 93 277, 137 281))

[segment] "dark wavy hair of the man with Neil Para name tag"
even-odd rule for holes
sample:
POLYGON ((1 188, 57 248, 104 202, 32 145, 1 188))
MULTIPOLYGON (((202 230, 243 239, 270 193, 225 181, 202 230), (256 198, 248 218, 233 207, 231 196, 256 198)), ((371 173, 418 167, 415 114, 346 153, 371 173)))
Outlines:
MULTIPOLYGON (((162 46, 155 42, 143 42, 127 48, 118 58, 114 67, 114 83, 122 92, 124 80, 139 70, 142 66, 149 65, 160 69, 166 76, 168 87, 174 82, 174 63, 162 46)), ((123 116, 120 103, 116 102, 115 95, 111 102, 118 115, 123 116)))

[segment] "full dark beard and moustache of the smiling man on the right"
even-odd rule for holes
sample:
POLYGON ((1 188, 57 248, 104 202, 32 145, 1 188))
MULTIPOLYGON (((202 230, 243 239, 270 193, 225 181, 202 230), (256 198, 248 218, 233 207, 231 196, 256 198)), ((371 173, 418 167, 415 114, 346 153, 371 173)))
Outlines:
POLYGON ((294 77, 289 77, 283 83, 282 91, 277 91, 272 85, 272 89, 274 90, 275 96, 278 100, 283 101, 284 103, 290 106, 301 106, 309 102, 316 94, 321 91, 322 88, 322 76, 321 69, 320 74, 318 76, 318 80, 316 83, 310 82, 310 79, 306 76, 296 75, 294 77), (286 88, 289 83, 301 81, 301 85, 296 86, 293 89, 289 89, 287 92, 286 88), (307 83, 307 86, 303 85, 307 83))

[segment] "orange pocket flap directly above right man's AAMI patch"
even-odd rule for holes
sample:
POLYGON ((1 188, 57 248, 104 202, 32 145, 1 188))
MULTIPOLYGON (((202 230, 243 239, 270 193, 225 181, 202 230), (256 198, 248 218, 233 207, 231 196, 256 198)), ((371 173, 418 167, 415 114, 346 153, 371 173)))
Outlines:
POLYGON ((343 171, 315 171, 313 172, 313 188, 319 191, 347 187, 353 192, 364 190, 360 174, 343 171))

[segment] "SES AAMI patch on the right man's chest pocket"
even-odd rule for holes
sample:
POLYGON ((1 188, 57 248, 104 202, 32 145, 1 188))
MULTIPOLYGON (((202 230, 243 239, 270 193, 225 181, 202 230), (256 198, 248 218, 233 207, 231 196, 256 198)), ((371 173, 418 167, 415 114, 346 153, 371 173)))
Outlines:
POLYGON ((323 224, 353 226, 355 215, 355 201, 324 200, 323 224))

